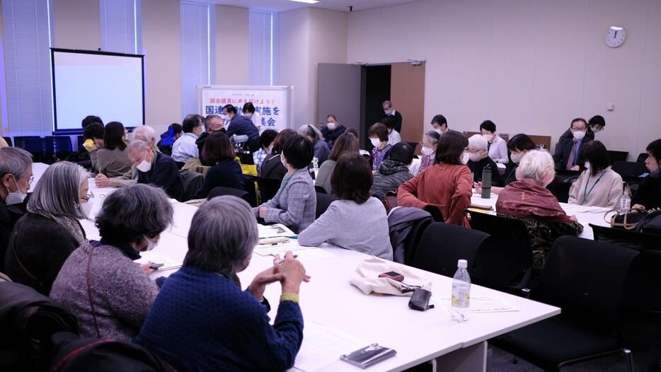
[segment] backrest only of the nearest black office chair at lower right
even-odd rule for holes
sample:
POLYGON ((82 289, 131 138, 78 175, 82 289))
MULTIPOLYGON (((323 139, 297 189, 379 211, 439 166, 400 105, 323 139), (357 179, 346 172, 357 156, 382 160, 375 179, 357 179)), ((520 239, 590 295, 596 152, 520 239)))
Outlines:
POLYGON ((562 308, 562 317, 611 332, 621 320, 621 298, 638 252, 563 236, 553 243, 534 298, 562 308))

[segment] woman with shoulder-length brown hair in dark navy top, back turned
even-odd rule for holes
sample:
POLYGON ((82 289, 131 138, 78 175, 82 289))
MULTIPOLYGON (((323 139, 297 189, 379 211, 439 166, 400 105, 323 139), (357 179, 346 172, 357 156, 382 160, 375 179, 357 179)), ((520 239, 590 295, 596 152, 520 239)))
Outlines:
POLYGON ((193 199, 206 199, 214 187, 230 187, 243 190, 243 173, 241 165, 234 160, 234 146, 224 133, 216 133, 207 137, 202 156, 207 163, 215 165, 209 169, 200 190, 193 199))

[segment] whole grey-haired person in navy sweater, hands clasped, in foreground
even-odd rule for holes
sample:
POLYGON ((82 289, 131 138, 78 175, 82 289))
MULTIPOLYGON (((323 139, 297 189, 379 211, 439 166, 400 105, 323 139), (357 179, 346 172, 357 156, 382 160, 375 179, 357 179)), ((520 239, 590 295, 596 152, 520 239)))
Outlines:
POLYGON ((303 340, 299 287, 308 281, 291 252, 241 291, 236 273, 248 267, 257 245, 257 223, 248 203, 216 197, 192 218, 183 267, 163 284, 134 339, 177 371, 284 371, 303 340), (264 298, 280 281, 273 325, 264 298))

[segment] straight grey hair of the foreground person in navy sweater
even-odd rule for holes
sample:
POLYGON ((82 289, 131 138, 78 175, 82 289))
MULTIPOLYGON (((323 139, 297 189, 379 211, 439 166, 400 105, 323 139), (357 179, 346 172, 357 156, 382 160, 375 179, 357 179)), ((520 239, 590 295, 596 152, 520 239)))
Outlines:
POLYGON ((192 217, 183 265, 231 279, 253 254, 258 238, 257 221, 246 201, 227 195, 214 197, 192 217))

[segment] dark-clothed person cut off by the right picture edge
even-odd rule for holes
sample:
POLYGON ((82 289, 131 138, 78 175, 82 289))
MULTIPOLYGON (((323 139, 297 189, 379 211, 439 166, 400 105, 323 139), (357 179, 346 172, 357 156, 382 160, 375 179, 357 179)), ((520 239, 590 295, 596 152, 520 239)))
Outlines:
POLYGON ((650 175, 640 182, 638 191, 631 198, 631 205, 638 209, 661 208, 661 139, 652 141, 648 144, 648 158, 645 159, 645 166, 650 171, 650 175))

